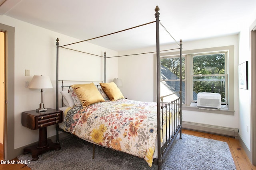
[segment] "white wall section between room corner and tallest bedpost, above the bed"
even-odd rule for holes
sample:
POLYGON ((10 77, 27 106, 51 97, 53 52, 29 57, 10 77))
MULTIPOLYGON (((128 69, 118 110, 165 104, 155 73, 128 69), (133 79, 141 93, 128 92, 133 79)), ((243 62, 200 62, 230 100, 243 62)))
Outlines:
MULTIPOLYGON (((150 51, 151 49, 146 50, 150 51)), ((118 55, 137 54, 141 51, 143 49, 119 52, 118 55)), ((146 102, 153 101, 153 64, 153 54, 119 57, 118 78, 122 79, 123 84, 119 88, 126 98, 146 102)))

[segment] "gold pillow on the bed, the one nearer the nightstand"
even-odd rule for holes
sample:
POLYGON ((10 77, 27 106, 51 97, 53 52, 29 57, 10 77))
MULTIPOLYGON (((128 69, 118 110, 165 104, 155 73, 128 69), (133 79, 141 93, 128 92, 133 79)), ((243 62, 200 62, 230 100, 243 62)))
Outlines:
POLYGON ((105 102, 100 92, 94 85, 90 84, 74 84, 71 86, 79 97, 82 106, 86 107, 94 103, 105 102))

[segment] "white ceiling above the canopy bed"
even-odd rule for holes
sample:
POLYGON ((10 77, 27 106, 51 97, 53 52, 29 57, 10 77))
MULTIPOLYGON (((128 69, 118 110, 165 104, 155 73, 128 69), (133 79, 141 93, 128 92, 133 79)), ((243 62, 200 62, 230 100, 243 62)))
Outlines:
MULTIPOLYGON (((0 15, 80 40, 155 21, 156 5, 161 23, 176 41, 236 34, 242 21, 256 10, 256 0, 0 0, 1 3, 0 15)), ((155 24, 149 24, 88 42, 116 51, 149 47, 156 41, 154 30, 155 24)), ((160 31, 160 43, 173 42, 165 31, 160 31)))

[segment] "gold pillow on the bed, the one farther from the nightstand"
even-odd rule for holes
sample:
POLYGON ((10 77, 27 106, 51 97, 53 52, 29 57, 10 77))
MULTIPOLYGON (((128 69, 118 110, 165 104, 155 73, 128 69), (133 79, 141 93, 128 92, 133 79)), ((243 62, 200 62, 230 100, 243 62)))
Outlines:
POLYGON ((120 89, 114 82, 111 83, 100 83, 101 88, 104 90, 109 100, 116 101, 118 99, 124 99, 124 96, 120 89))

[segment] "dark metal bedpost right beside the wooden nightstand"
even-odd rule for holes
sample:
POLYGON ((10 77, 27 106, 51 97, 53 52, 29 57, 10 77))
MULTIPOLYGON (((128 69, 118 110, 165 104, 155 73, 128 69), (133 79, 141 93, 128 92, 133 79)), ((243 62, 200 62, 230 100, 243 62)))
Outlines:
MULTIPOLYGON (((59 109, 59 38, 56 39, 56 110, 59 109)), ((56 125, 56 143, 59 143, 59 124, 56 125)))

